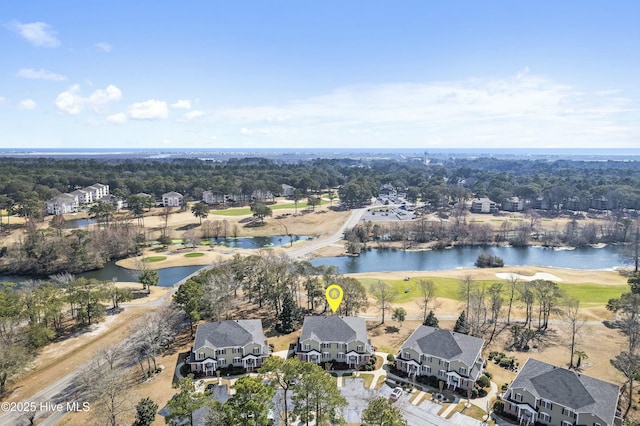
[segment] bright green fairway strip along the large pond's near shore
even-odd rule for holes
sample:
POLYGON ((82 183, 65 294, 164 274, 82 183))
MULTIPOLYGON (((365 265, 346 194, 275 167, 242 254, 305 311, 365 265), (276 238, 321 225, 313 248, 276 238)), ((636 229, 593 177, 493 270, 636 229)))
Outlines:
MULTIPOLYGON (((421 277, 411 278, 409 281, 404 280, 385 280, 385 282, 391 285, 397 293, 394 303, 405 303, 420 297, 420 290, 418 288, 419 280, 430 280, 435 283, 435 296, 445 299, 462 300, 460 295, 460 280, 454 278, 436 278, 436 277, 421 277), (409 292, 405 293, 405 289, 409 289, 409 292)), ((359 280, 364 287, 369 291, 371 285, 378 282, 374 278, 362 278, 359 280)), ((487 288, 493 283, 504 283, 504 296, 507 297, 506 281, 496 278, 495 280, 478 280, 475 283, 485 285, 487 288)), ((564 293, 571 297, 578 299, 583 304, 589 305, 605 305, 609 299, 620 297, 624 292, 629 291, 627 285, 600 285, 593 283, 580 283, 580 284, 566 284, 557 283, 558 287, 564 293)))

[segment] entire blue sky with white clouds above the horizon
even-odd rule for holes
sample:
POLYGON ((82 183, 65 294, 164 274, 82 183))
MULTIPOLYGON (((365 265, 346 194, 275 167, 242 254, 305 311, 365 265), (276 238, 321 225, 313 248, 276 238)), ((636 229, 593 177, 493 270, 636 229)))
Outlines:
POLYGON ((0 148, 636 148, 637 1, 5 0, 0 148))

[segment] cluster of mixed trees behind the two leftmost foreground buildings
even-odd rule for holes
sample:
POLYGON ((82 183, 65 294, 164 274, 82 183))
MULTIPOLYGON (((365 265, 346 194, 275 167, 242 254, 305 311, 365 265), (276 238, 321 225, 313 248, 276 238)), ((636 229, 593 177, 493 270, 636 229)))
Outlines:
POLYGON ((192 324, 201 320, 233 319, 240 296, 269 308, 271 320, 285 332, 297 328, 304 313, 323 313, 325 288, 339 284, 344 297, 338 314, 355 316, 367 307, 367 292, 356 279, 335 267, 313 266, 271 251, 250 256, 236 254, 182 283, 174 296, 192 324))

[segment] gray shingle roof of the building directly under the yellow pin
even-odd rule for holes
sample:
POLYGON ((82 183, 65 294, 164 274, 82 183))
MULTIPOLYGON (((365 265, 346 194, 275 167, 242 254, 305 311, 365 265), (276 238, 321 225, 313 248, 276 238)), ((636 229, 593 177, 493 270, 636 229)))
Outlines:
POLYGON ((300 340, 310 338, 321 342, 350 342, 352 340, 369 342, 364 318, 335 315, 305 317, 300 340))

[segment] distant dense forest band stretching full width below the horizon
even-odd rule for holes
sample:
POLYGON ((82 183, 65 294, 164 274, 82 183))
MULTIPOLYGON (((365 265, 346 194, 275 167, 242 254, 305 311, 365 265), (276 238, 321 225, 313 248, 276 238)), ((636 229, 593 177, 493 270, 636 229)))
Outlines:
MULTIPOLYGON (((605 197, 614 211, 640 209, 640 168, 635 161, 530 161, 495 158, 451 158, 424 165, 384 160, 316 159, 279 163, 261 158, 222 163, 198 159, 62 160, 0 159, 0 208, 39 218, 43 202, 60 193, 106 183, 123 199, 148 193, 155 199, 177 191, 187 200, 202 192, 251 195, 280 194, 282 184, 294 186, 302 197, 339 187, 348 207, 366 203, 380 185, 402 188, 410 201, 421 199, 434 208, 471 197, 500 203, 517 196, 529 203, 543 197, 552 211, 588 210, 605 197)), ((0 218, 0 223, 2 220, 0 218)))

